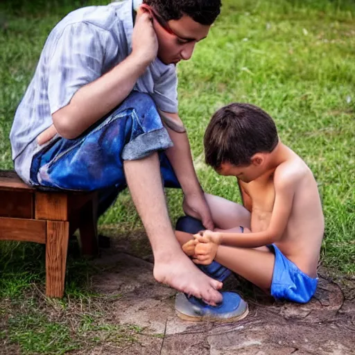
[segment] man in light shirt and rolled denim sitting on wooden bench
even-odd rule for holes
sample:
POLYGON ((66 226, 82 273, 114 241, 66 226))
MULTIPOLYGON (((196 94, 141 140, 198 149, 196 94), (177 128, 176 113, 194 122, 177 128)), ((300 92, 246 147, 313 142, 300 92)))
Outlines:
POLYGON ((10 133, 15 170, 28 184, 100 189, 100 213, 128 184, 155 279, 210 304, 221 300, 221 283, 179 248, 163 184, 181 187, 185 212, 213 227, 178 116, 175 64, 191 58, 219 12, 219 0, 126 0, 71 12, 49 34, 10 133))

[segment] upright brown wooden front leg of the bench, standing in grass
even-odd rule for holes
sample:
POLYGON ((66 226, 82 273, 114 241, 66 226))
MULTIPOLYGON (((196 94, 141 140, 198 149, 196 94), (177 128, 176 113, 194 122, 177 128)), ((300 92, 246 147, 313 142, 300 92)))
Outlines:
POLYGON ((46 295, 63 297, 69 222, 48 220, 46 228, 46 295))

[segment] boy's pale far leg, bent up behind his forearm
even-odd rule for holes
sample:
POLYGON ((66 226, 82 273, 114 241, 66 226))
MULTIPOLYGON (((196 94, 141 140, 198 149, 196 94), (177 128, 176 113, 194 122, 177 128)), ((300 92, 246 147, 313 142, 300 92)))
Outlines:
POLYGON ((250 212, 248 209, 238 203, 209 193, 205 193, 205 198, 216 227, 221 230, 230 230, 240 225, 250 228, 250 212))

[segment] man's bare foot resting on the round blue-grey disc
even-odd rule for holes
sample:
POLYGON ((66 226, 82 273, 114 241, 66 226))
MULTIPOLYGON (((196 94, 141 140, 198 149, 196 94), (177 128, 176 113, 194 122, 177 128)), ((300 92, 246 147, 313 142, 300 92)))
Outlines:
POLYGON ((157 282, 202 298, 212 306, 222 301, 222 295, 217 291, 223 286, 222 282, 211 279, 198 270, 184 254, 164 258, 162 261, 155 258, 153 274, 157 282))

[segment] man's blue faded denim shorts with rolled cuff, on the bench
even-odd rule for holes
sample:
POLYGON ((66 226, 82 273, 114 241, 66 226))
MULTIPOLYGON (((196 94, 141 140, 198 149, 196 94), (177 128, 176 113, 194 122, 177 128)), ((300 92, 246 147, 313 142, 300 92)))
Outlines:
POLYGON ((180 187, 164 153, 171 146, 153 99, 148 94, 132 92, 80 137, 56 137, 36 153, 31 164, 31 184, 40 189, 99 190, 101 214, 127 186, 124 160, 142 159, 158 152, 164 186, 180 187))

